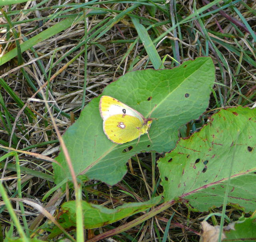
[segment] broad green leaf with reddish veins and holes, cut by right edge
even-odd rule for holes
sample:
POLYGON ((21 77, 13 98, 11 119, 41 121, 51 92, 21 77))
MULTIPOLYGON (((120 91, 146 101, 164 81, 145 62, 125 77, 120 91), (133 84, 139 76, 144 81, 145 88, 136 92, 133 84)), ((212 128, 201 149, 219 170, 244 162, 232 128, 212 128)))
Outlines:
POLYGON ((159 160, 165 201, 180 199, 200 211, 228 203, 256 208, 256 111, 228 108, 159 160))

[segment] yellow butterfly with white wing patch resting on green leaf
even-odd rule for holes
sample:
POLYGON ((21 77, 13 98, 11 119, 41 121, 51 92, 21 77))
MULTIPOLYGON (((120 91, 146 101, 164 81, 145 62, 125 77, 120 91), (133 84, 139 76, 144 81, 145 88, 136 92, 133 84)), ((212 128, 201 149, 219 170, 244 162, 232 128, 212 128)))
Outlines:
POLYGON ((138 111, 110 96, 102 96, 99 106, 104 133, 112 142, 124 144, 148 134, 153 118, 144 118, 138 111))

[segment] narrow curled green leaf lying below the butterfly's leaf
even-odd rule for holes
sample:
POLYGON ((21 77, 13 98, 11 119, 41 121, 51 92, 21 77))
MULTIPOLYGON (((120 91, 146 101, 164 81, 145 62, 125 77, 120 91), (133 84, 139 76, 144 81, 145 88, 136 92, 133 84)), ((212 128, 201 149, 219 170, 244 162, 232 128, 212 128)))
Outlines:
MULTIPOLYGON (((107 224, 112 224, 138 212, 143 212, 146 209, 157 205, 160 201, 161 196, 158 196, 147 202, 130 202, 118 206, 115 209, 109 209, 104 206, 82 201, 84 228, 99 228, 107 224)), ((76 201, 65 202, 62 204, 60 214, 58 222, 63 228, 76 227, 76 201)), ((55 227, 50 238, 54 238, 60 233, 62 233, 62 231, 58 227, 55 227)))

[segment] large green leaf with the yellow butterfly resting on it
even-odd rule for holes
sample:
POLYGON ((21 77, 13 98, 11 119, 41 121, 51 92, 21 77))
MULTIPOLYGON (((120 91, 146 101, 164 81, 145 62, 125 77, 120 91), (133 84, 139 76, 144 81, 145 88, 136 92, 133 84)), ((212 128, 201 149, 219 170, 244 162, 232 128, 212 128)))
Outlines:
MULTIPOLYGON (((127 160, 144 151, 166 152, 178 140, 178 128, 197 119, 208 106, 214 83, 215 69, 212 59, 201 57, 184 62, 172 70, 140 70, 128 72, 109 84, 104 95, 117 98, 154 120, 149 135, 122 145, 114 144, 103 132, 99 112, 100 97, 94 98, 82 111, 80 118, 65 132, 76 174, 81 178, 96 179, 116 184, 126 173, 127 160), (126 151, 126 148, 129 151, 126 151)), ((55 182, 70 178, 63 152, 56 159, 62 167, 53 164, 55 182)))

